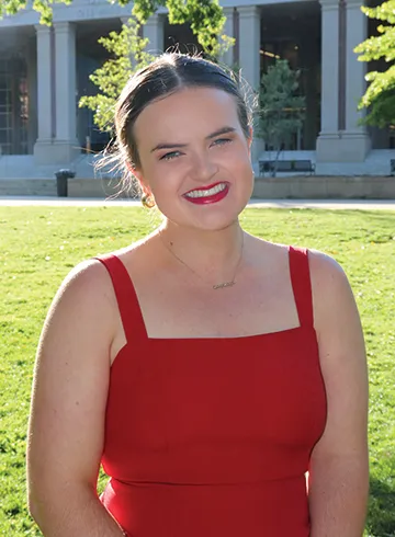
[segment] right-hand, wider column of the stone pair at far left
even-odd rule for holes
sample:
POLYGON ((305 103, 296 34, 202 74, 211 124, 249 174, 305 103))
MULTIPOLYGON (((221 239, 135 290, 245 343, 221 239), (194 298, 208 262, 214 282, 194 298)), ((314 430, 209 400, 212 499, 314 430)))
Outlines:
POLYGON ((77 139, 76 26, 69 22, 58 22, 54 24, 54 28, 56 91, 54 161, 67 163, 80 153, 80 144, 77 139))

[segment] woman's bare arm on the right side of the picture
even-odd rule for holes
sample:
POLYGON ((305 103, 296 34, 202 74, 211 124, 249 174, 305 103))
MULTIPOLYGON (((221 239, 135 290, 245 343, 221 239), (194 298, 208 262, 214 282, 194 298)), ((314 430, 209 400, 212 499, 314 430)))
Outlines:
POLYGON ((311 252, 315 327, 328 419, 309 468, 311 537, 361 537, 369 492, 368 375, 361 323, 347 277, 311 252))

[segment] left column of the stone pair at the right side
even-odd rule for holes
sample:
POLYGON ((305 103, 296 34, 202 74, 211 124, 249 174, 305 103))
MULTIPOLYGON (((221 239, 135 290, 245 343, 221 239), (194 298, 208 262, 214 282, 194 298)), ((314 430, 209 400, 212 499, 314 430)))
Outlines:
POLYGON ((339 2, 321 4, 321 125, 317 162, 339 160, 339 2))

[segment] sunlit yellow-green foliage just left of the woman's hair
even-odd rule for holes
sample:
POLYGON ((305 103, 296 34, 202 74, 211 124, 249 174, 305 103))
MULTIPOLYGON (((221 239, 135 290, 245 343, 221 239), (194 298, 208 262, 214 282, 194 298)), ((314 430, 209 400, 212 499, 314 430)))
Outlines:
POLYGON ((145 50, 149 42, 138 35, 138 28, 139 24, 131 19, 120 33, 111 32, 99 39, 112 58, 89 77, 100 93, 82 96, 79 106, 93 111, 94 124, 101 130, 112 132, 114 105, 128 78, 155 59, 145 50))

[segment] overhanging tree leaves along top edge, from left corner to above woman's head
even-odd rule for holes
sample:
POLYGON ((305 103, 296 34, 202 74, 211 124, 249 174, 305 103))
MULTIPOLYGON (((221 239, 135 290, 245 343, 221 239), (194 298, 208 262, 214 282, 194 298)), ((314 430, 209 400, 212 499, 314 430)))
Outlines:
MULTIPOLYGON (((70 4, 72 0, 33 0, 33 9, 41 13, 41 23, 50 24, 53 5, 56 3, 70 4)), ((121 5, 127 5, 131 0, 109 0, 121 5)), ((15 14, 25 9, 27 0, 0 0, 0 18, 5 14, 15 14)), ((217 57, 227 49, 233 39, 222 36, 226 18, 218 0, 135 0, 132 10, 133 16, 140 24, 154 14, 159 7, 166 7, 169 12, 170 24, 189 22, 192 32, 205 53, 217 57), (218 36, 222 43, 218 44, 218 36)))

